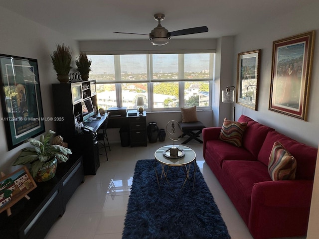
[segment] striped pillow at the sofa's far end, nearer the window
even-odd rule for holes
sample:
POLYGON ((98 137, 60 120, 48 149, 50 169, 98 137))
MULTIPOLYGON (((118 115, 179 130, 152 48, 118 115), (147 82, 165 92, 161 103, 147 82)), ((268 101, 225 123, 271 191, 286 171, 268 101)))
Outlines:
POLYGON ((237 147, 241 147, 241 140, 247 124, 247 122, 241 123, 225 118, 219 134, 219 139, 234 144, 237 147))

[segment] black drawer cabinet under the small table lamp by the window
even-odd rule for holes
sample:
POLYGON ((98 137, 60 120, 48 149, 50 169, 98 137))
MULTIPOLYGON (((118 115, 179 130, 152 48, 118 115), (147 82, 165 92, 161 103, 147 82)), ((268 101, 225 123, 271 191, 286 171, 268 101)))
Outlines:
POLYGON ((146 113, 143 116, 128 117, 130 123, 130 141, 133 146, 148 146, 146 131, 146 113))

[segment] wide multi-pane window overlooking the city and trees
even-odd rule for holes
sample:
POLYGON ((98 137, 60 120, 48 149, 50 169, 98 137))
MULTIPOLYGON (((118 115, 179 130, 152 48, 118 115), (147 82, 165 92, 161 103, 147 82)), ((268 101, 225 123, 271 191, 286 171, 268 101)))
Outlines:
POLYGON ((197 106, 211 109, 213 53, 90 55, 98 107, 136 109, 144 98, 147 111, 197 106))

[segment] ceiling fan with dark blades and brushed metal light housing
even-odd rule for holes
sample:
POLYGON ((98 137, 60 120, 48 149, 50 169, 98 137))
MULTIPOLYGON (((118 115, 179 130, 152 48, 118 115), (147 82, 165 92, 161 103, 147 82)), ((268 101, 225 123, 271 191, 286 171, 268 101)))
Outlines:
POLYGON ((130 33, 130 32, 118 32, 113 31, 114 33, 122 33, 122 34, 135 34, 135 35, 147 35, 149 36, 150 40, 152 41, 153 45, 162 46, 168 43, 171 36, 181 36, 181 35, 188 35, 188 34, 195 34, 195 33, 202 33, 207 32, 207 26, 199 26, 193 28, 187 28, 177 31, 169 32, 165 27, 162 27, 160 21, 165 18, 165 15, 162 13, 154 14, 154 19, 159 21, 157 27, 155 27, 150 34, 141 34, 141 33, 130 33))

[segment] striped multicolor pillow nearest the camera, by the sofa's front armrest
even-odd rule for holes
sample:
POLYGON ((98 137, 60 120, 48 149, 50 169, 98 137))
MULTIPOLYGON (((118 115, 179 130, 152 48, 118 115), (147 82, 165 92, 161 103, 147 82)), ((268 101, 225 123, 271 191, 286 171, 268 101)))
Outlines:
POLYGON ((271 150, 268 163, 268 172, 273 181, 294 180, 297 161, 280 143, 275 142, 271 150))

